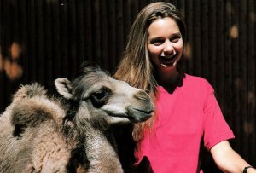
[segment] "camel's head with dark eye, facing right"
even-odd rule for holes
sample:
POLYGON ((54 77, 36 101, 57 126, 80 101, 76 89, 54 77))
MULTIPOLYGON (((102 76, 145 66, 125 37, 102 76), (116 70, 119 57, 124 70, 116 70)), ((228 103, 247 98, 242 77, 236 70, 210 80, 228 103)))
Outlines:
POLYGON ((104 118, 108 124, 137 123, 150 118, 154 111, 143 90, 111 78, 98 67, 84 67, 72 82, 58 78, 55 86, 61 95, 76 103, 80 122, 104 118))

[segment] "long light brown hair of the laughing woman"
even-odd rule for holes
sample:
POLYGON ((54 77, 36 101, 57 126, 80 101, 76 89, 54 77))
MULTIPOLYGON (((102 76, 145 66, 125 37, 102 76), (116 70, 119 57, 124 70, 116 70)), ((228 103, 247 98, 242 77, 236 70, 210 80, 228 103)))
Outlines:
MULTIPOLYGON (((128 35, 123 59, 114 75, 115 78, 124 80, 133 87, 147 91, 152 101, 155 101, 157 82, 154 78, 154 66, 148 56, 148 27, 154 20, 165 17, 170 17, 177 23, 182 38, 185 40, 185 25, 177 8, 171 3, 150 3, 137 14, 128 35)), ((151 130, 156 118, 156 113, 154 113, 153 118, 134 126, 135 141, 143 138, 145 128, 151 130)))

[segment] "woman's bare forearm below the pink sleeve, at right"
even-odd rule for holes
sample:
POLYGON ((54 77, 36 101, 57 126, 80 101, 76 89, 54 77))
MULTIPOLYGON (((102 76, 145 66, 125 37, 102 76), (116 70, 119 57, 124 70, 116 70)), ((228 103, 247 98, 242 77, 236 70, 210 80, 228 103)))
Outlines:
MULTIPOLYGON (((229 141, 221 141, 210 150, 214 162, 224 172, 242 173, 249 166, 247 162, 230 147, 229 141)), ((254 168, 249 168, 247 173, 256 173, 254 168)))

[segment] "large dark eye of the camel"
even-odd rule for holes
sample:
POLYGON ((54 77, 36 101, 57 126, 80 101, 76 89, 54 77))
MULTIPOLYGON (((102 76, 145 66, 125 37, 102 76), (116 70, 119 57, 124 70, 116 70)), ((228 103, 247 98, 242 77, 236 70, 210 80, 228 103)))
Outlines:
POLYGON ((102 107, 110 95, 112 95, 111 89, 103 87, 90 95, 90 101, 95 107, 102 107))

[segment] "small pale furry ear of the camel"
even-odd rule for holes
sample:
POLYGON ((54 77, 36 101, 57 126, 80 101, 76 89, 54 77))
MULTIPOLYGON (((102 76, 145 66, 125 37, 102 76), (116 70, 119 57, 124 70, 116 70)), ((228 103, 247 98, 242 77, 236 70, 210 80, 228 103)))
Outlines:
POLYGON ((71 82, 67 78, 57 78, 55 79, 55 87, 61 95, 63 95, 66 99, 71 99, 72 94, 72 86, 71 82))

